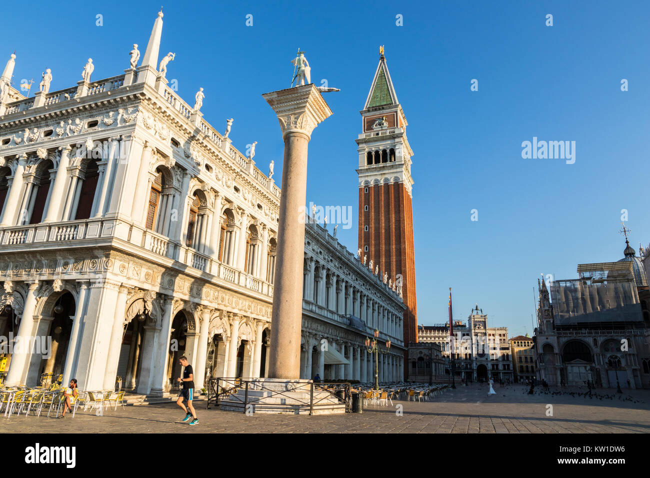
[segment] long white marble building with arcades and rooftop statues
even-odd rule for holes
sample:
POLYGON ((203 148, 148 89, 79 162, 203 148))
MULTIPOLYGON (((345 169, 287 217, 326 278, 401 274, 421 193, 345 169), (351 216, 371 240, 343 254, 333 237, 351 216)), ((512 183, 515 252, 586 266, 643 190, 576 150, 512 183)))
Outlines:
MULTIPOLYGON (((49 358, 5 354, 8 384, 53 373, 112 390, 121 377, 161 395, 181 354, 198 389, 206 374, 265 376, 280 190, 203 120, 203 97, 195 109, 167 85, 161 34, 162 13, 140 66, 132 52, 120 75, 86 70, 51 92, 44 79, 33 98, 8 85, 14 58, 5 68, 0 335, 52 341, 49 358)), ((400 378, 399 295, 320 226, 305 237, 303 378, 371 380, 375 326, 395 352, 382 378, 400 378)))

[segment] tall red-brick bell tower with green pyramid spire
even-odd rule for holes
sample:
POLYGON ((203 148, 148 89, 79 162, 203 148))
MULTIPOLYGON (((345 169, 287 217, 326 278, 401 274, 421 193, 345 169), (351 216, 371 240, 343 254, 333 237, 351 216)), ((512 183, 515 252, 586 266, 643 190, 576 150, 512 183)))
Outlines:
MULTIPOLYGON (((393 81, 380 47, 380 59, 361 111, 359 148, 359 248, 361 259, 379 265, 395 282, 402 275, 404 345, 417 342, 415 250, 411 156, 406 116, 397 101, 393 81)), ((373 265, 374 268, 374 265, 373 265)), ((404 358, 408 376, 408 356, 404 358)))

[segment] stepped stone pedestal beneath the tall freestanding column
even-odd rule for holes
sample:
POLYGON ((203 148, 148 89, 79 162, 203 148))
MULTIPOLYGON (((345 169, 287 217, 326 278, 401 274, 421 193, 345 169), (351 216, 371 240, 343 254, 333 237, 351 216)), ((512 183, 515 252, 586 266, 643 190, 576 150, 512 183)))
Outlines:
MULTIPOLYGON (((246 386, 240 386, 227 400, 220 402, 220 409, 231 412, 264 414, 309 414, 314 415, 345 413, 345 403, 329 392, 314 390, 313 408, 311 403, 311 380, 278 380, 274 378, 257 378, 246 386), (244 402, 245 405, 244 405, 244 402)), ((226 387, 234 382, 227 382, 226 387)))

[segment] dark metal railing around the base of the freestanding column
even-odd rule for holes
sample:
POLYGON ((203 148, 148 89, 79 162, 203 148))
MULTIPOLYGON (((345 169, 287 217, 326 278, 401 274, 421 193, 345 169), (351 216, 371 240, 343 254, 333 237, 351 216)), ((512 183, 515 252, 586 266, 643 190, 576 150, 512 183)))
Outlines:
POLYGON ((220 406, 221 402, 227 399, 237 403, 237 405, 241 404, 243 412, 246 413, 248 405, 255 405, 256 403, 259 403, 262 398, 249 397, 248 392, 254 390, 255 392, 270 392, 270 395, 264 397, 265 399, 284 397, 285 399, 297 402, 295 405, 298 406, 299 409, 306 410, 309 408, 309 415, 313 415, 315 406, 319 404, 325 405, 323 402, 331 399, 336 399, 339 405, 344 404, 346 412, 352 410, 352 394, 350 393, 350 383, 348 382, 291 383, 291 390, 273 390, 272 388, 265 386, 265 384, 269 383, 285 384, 287 383, 287 380, 270 380, 265 378, 262 382, 259 378, 249 380, 244 380, 243 378, 224 377, 210 378, 207 387, 207 401, 205 408, 210 408, 210 405, 220 406), (243 400, 238 393, 240 389, 244 390, 243 400), (287 395, 287 393, 294 392, 309 393, 309 399, 301 400, 298 397, 287 395), (314 392, 327 392, 327 394, 322 397, 314 397, 314 392))

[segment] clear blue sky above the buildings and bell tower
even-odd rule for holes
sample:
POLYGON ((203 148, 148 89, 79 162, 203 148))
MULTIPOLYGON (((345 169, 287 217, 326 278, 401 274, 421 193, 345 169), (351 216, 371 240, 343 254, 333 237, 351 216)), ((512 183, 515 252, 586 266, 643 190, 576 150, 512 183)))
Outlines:
MULTIPOLYGON (((74 86, 88 57, 94 79, 144 55, 159 1, 31 2, 3 22, 0 60, 17 50, 14 81, 74 86), (44 12, 44 14, 34 14, 44 12), (103 26, 96 26, 96 15, 103 26)), ((578 263, 623 257, 621 209, 631 243, 650 242, 650 5, 600 1, 422 3, 163 2, 161 57, 168 79, 219 131, 233 117, 233 144, 257 140, 255 160, 281 178, 283 142, 262 93, 289 87, 290 60, 305 51, 312 81, 341 92, 309 145, 307 202, 352 206, 339 239, 357 249, 359 111, 385 45, 409 122, 419 323, 454 318, 478 302, 490 325, 532 334, 540 272, 575 278, 578 263), (246 27, 246 14, 253 26, 246 27), (402 14, 404 26, 396 26, 402 14), (545 16, 553 15, 552 27, 545 16), (478 92, 470 91, 478 79, 478 92), (629 91, 621 92, 621 79, 629 91), (522 159, 521 142, 575 140, 576 161, 522 159), (471 209, 478 209, 472 222, 471 209)), ((35 85, 35 86, 36 86, 35 85)))

